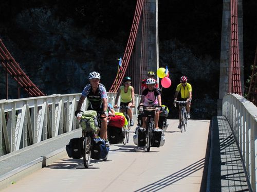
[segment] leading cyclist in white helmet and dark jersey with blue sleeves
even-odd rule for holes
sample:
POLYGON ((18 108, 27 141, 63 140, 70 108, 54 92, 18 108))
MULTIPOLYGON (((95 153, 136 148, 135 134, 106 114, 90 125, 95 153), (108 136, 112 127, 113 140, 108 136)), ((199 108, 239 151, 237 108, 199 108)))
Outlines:
POLYGON ((101 76, 98 72, 91 72, 88 75, 90 84, 87 84, 82 91, 80 100, 78 102, 77 110, 81 110, 82 103, 85 98, 88 100, 87 110, 94 110, 104 112, 104 119, 101 119, 101 134, 100 137, 105 140, 106 146, 109 146, 107 140, 107 93, 103 84, 100 83, 101 76))

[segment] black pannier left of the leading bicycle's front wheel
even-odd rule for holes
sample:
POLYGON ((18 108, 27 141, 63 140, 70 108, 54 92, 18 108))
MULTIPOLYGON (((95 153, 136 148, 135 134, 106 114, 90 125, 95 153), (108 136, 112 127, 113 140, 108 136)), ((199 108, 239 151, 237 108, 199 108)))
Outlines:
POLYGON ((66 152, 69 157, 73 159, 83 157, 83 141, 82 137, 70 139, 69 144, 66 145, 66 152))

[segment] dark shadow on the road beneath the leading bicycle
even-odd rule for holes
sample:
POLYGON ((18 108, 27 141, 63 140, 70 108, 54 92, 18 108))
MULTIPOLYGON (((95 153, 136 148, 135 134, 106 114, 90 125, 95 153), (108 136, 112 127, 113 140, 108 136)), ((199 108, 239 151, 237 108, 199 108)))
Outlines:
MULTIPOLYGON (((89 169, 98 169, 96 165, 102 160, 93 160, 91 159, 91 165, 89 169), (94 165, 93 165, 94 164, 94 165)), ((108 160, 107 160, 108 161, 108 160)), ((46 166, 52 169, 84 169, 83 159, 62 159, 59 163, 52 163, 51 165, 46 166)))

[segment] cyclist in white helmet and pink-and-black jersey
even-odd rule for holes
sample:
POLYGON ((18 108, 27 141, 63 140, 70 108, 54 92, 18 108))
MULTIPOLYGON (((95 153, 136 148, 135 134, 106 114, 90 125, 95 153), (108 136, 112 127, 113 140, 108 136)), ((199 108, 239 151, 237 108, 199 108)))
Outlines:
MULTIPOLYGON (((155 87, 156 81, 154 79, 146 79, 147 88, 143 90, 141 95, 140 105, 144 106, 154 106, 161 105, 160 91, 155 87)), ((158 129, 159 112, 156 113, 154 117, 155 129, 158 129)), ((143 117, 142 127, 146 128, 146 117, 143 117)))

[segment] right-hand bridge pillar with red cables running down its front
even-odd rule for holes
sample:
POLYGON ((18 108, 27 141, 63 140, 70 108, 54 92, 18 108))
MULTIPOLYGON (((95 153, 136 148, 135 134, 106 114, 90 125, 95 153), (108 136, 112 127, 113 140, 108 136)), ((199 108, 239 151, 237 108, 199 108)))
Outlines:
POLYGON ((243 66, 242 0, 224 0, 217 115, 222 115, 224 95, 243 95, 243 66))

